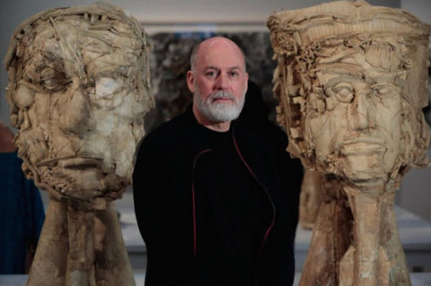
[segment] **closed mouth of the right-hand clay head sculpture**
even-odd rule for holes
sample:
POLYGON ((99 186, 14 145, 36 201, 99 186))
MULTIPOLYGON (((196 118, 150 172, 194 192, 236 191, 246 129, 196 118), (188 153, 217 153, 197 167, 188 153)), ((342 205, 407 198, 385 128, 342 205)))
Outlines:
POLYGON ((378 138, 358 138, 342 143, 340 153, 349 155, 375 155, 386 151, 384 142, 378 138))

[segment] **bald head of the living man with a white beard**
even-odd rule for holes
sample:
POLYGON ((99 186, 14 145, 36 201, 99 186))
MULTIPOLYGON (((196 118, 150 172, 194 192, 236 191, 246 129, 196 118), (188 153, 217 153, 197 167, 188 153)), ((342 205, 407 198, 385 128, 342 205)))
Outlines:
POLYGON ((207 40, 188 73, 195 111, 211 122, 235 119, 242 110, 247 80, 240 49, 225 39, 207 40))

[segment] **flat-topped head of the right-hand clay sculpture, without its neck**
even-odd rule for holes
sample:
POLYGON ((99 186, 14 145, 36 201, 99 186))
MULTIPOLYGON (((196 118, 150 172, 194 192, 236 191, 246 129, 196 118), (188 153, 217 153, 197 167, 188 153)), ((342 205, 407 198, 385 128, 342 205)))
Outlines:
POLYGON ((306 168, 386 184, 427 165, 427 24, 364 1, 274 13, 267 24, 279 119, 306 168))

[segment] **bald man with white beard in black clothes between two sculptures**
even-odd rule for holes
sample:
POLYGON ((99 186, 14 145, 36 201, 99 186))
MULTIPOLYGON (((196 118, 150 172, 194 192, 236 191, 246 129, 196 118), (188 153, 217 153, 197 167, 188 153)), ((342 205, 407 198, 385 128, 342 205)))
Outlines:
POLYGON ((145 137, 133 174, 145 285, 291 285, 292 227, 264 143, 233 120, 248 74, 222 37, 192 52, 193 104, 145 137))

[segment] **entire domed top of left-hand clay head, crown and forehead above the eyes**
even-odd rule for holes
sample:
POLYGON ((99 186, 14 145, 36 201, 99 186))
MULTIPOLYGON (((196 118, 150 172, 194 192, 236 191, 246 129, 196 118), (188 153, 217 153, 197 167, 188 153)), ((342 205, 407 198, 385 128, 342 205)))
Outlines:
POLYGON ((4 64, 17 78, 29 63, 39 70, 44 65, 65 65, 66 75, 77 72, 68 69, 72 62, 82 65, 81 75, 85 71, 92 76, 96 70, 130 73, 128 67, 145 62, 138 58, 148 48, 135 18, 109 4, 92 4, 51 9, 22 22, 13 33, 4 64))

